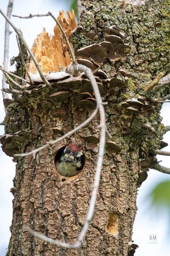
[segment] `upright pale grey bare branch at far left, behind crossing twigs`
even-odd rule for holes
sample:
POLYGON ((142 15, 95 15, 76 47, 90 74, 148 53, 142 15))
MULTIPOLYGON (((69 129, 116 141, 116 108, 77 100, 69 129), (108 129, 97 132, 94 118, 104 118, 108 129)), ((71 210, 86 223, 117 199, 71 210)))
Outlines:
MULTIPOLYGON (((7 9, 7 17, 9 19, 11 17, 12 8, 13 8, 13 0, 9 0, 8 9, 7 9)), ((9 23, 6 21, 6 25, 5 25, 4 59, 3 59, 3 67, 4 67, 5 70, 8 69, 9 35, 10 35, 10 33, 11 32, 9 31, 9 23)), ((8 84, 6 84, 4 75, 3 75, 2 88, 8 88, 8 84)), ((7 99, 7 98, 8 98, 8 95, 3 92, 3 99, 7 99)), ((4 106, 4 108, 5 108, 5 106, 4 106)), ((5 111, 6 111, 6 108, 5 108, 5 111)))

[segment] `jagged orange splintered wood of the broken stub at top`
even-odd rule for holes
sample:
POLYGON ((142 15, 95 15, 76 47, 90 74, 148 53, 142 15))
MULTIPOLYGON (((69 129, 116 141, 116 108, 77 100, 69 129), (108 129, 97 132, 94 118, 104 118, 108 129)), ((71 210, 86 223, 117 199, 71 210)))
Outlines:
MULTIPOLYGON (((74 10, 72 10, 72 13, 67 11, 67 14, 68 18, 66 19, 64 11, 59 12, 57 20, 64 29, 67 37, 69 37, 71 31, 77 26, 77 23, 74 10)), ((31 51, 37 58, 44 75, 48 75, 51 71, 58 72, 59 67, 64 68, 71 63, 71 56, 57 24, 54 27, 54 35, 52 37, 48 35, 45 28, 43 29, 43 32, 35 39, 31 51)), ((30 74, 38 73, 32 59, 28 64, 28 72, 30 74)))

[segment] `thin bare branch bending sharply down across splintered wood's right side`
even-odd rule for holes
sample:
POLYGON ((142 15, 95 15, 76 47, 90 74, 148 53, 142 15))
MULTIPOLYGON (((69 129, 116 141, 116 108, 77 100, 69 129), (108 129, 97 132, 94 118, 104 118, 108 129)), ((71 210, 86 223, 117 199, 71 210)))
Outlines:
POLYGON ((71 55, 73 64, 77 64, 77 60, 76 60, 76 58, 75 58, 75 56, 74 56, 73 50, 71 49, 70 42, 68 41, 68 38, 67 38, 67 36, 65 35, 65 32, 64 32, 62 26, 60 25, 59 21, 56 19, 56 17, 54 17, 54 15, 53 15, 51 12, 48 12, 48 13, 46 13, 46 14, 35 14, 35 15, 31 15, 31 14, 30 14, 29 16, 25 16, 25 17, 23 17, 23 16, 17 16, 17 15, 13 15, 13 16, 14 16, 14 17, 18 17, 18 18, 22 18, 22 19, 29 19, 29 18, 32 18, 32 17, 51 16, 51 17, 55 20, 55 22, 57 23, 57 26, 59 27, 60 31, 62 32, 63 38, 65 39, 65 42, 66 42, 67 47, 68 47, 68 51, 69 51, 69 53, 70 53, 70 55, 71 55))

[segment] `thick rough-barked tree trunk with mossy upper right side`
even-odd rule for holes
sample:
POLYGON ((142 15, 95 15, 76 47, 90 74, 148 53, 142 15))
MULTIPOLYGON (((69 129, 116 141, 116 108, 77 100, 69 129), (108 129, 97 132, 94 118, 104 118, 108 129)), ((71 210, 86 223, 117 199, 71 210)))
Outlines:
MULTIPOLYGON (((160 72, 164 75, 170 72, 167 39, 170 2, 152 0, 133 6, 113 0, 83 0, 82 4, 86 10, 82 11, 78 28, 70 36, 75 51, 104 41, 104 28, 116 25, 126 35, 124 41, 130 45, 131 51, 126 58, 105 61, 102 70, 108 79, 117 77, 123 80, 119 70, 125 70, 124 76, 133 75, 128 83, 125 78, 121 85, 119 80, 115 84, 112 80, 110 84, 102 80, 103 86, 98 81, 103 101, 108 102, 105 106, 106 123, 113 137, 106 139, 94 218, 78 249, 60 248, 23 231, 23 227, 28 226, 52 239, 69 243, 77 241, 94 183, 99 116, 77 134, 53 148, 40 151, 35 159, 32 156, 15 158, 17 169, 14 188, 11 189, 14 195, 13 220, 6 256, 126 256, 136 215, 137 187, 147 176, 143 172, 147 168, 142 163, 153 163, 154 150, 160 148, 164 134, 159 116, 161 105, 151 99, 170 92, 167 87, 154 93, 152 90, 145 92, 144 86, 160 72), (148 123, 156 131, 144 126, 148 123), (57 151, 69 143, 83 147, 85 166, 78 175, 63 177, 55 168, 54 158, 57 151)), ((51 103, 49 107, 44 95, 67 90, 68 87, 74 93, 93 94, 86 80, 78 85, 77 81, 63 84, 53 83, 52 89, 30 88, 29 96, 24 94, 25 98, 15 97, 14 102, 10 102, 5 119, 5 132, 9 136, 0 139, 6 154, 12 156, 45 145, 91 115, 95 106, 81 105, 77 108, 71 91, 63 98, 55 98, 58 103, 51 103)))

